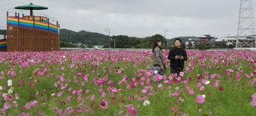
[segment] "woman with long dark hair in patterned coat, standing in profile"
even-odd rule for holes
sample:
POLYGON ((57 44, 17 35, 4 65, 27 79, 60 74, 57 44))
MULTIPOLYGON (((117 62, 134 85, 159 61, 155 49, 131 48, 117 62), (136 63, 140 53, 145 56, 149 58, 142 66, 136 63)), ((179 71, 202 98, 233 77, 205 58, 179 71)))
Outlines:
POLYGON ((161 51, 161 40, 155 39, 152 52, 154 53, 152 60, 153 66, 160 67, 160 70, 157 73, 163 75, 166 72, 166 67, 164 64, 164 55, 161 51))

